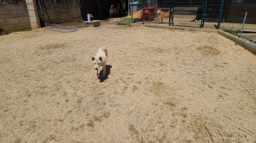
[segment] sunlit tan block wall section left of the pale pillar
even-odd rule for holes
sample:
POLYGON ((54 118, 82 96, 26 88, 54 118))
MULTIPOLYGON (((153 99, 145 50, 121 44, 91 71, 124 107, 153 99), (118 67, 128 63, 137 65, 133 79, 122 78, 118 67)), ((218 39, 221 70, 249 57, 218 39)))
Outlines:
POLYGON ((7 34, 32 30, 26 3, 0 3, 0 28, 4 29, 2 33, 7 34))

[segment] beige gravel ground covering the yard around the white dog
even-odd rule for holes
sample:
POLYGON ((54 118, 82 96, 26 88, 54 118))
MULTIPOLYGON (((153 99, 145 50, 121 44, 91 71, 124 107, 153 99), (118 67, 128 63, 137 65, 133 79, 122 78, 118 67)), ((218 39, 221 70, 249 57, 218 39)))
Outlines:
POLYGON ((255 73, 256 55, 216 33, 102 25, 0 36, 0 142, 256 142, 255 73), (91 56, 103 44, 98 79, 91 56))

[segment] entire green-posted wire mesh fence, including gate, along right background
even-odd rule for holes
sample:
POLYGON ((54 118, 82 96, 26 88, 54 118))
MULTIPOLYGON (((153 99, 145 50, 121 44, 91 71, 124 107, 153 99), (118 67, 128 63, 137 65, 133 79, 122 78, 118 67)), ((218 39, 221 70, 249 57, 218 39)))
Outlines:
POLYGON ((222 29, 256 43, 256 0, 142 0, 135 14, 138 23, 222 29))

